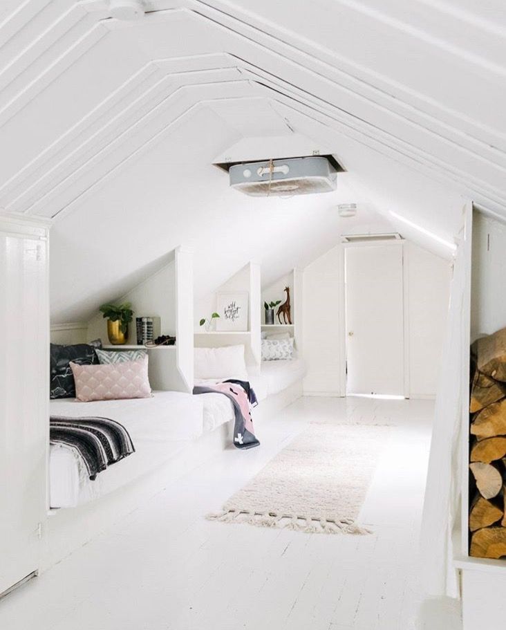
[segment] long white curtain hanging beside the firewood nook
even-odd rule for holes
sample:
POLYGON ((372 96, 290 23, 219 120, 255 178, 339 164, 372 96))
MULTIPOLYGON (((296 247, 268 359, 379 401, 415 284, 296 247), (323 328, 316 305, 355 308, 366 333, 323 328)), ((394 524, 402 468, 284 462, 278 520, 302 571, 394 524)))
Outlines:
POLYGON ((468 397, 462 391, 462 366, 467 363, 469 343, 469 248, 469 239, 462 239, 453 264, 422 518, 422 579, 427 593, 435 597, 459 596, 451 538, 460 510, 460 426, 462 404, 468 397))

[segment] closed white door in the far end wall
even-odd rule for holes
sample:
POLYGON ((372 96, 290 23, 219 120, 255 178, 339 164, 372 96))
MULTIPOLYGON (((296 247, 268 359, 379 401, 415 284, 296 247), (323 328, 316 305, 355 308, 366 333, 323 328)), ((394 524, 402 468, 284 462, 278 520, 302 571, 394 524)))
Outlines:
POLYGON ((402 245, 346 248, 347 393, 404 395, 402 245))

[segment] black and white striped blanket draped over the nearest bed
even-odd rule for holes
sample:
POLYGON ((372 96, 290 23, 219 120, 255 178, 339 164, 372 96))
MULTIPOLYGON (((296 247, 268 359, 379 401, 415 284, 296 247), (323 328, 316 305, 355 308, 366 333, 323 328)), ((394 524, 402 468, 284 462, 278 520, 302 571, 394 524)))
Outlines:
POLYGON ((127 429, 111 418, 51 416, 49 441, 75 448, 91 480, 106 467, 135 452, 127 429))

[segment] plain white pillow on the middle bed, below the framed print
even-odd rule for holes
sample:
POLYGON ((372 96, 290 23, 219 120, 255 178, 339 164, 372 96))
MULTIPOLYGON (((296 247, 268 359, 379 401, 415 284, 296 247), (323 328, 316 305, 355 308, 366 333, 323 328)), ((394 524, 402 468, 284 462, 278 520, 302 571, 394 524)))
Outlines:
POLYGON ((247 380, 244 346, 194 348, 194 377, 247 380))

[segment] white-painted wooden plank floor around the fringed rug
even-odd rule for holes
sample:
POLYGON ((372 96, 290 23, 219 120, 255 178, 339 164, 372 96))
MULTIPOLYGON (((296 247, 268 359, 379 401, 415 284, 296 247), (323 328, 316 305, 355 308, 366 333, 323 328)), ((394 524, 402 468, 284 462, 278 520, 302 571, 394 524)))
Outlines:
POLYGON ((3 630, 410 630, 433 403, 302 398, 0 602, 3 630), (362 516, 317 535, 207 521, 309 421, 393 425, 362 516))

